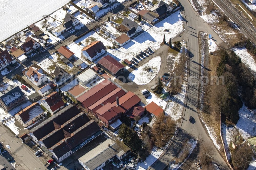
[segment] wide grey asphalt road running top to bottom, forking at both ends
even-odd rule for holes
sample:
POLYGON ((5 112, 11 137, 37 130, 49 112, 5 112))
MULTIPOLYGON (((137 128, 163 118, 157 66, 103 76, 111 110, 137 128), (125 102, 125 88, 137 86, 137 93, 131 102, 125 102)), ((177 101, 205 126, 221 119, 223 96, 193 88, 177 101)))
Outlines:
MULTIPOLYGON (((188 67, 188 82, 187 82, 187 92, 186 99, 183 110, 182 123, 180 125, 180 131, 177 137, 172 141, 170 149, 167 153, 154 165, 148 169, 165 169, 169 162, 172 161, 182 146, 182 142, 186 137, 192 137, 198 140, 198 143, 206 142, 214 146, 212 140, 210 139, 208 132, 206 131, 204 125, 201 123, 198 116, 198 96, 199 96, 199 78, 200 78, 200 57, 199 57, 199 44, 198 44, 198 32, 204 31, 212 35, 212 39, 217 43, 223 42, 210 26, 198 16, 198 14, 192 8, 188 0, 180 0, 180 3, 184 7, 183 17, 185 24, 185 31, 188 34, 187 45, 190 51, 190 67, 188 67), (193 117, 192 123, 190 123, 189 117, 193 117)), ((220 169, 229 169, 228 165, 214 147, 214 161, 220 169)))

